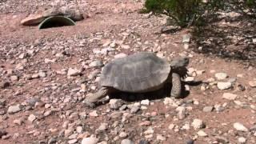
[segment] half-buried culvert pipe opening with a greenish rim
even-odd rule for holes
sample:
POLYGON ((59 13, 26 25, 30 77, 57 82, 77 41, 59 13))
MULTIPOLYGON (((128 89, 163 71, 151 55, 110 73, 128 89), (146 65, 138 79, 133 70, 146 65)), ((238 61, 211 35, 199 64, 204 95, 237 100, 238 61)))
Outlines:
POLYGON ((52 16, 49 18, 46 18, 44 21, 42 21, 38 28, 39 29, 47 29, 50 27, 59 27, 59 26, 74 26, 75 22, 65 16, 52 16))

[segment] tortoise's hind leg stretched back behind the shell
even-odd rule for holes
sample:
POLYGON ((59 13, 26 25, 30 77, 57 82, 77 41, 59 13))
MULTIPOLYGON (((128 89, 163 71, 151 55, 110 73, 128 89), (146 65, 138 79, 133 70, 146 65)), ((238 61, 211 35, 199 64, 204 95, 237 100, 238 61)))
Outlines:
POLYGON ((95 103, 106 97, 107 94, 109 94, 109 90, 106 87, 102 87, 100 90, 98 90, 98 92, 94 94, 88 94, 85 100, 86 106, 94 107, 95 103))

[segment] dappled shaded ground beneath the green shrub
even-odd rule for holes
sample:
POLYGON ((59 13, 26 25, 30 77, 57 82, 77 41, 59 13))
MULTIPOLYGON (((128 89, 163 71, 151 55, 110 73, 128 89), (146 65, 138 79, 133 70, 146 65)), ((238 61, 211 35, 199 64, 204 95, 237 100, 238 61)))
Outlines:
POLYGON ((230 13, 194 31, 194 51, 255 66, 255 30, 255 19, 230 13))

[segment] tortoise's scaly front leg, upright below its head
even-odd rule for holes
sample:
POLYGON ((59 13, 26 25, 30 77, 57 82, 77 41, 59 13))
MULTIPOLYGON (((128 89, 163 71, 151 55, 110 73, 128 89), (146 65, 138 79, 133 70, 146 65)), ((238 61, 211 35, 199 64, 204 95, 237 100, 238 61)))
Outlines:
POLYGON ((181 77, 177 73, 173 73, 171 75, 171 90, 170 90, 170 96, 174 98, 178 98, 182 95, 182 81, 181 77))

